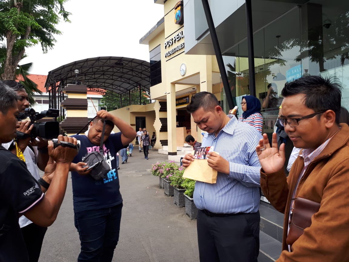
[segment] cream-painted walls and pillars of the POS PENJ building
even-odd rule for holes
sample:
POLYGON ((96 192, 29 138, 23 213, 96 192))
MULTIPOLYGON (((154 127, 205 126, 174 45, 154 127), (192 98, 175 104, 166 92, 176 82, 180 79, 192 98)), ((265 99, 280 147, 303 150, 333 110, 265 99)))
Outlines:
MULTIPOLYGON (((166 101, 167 112, 159 112, 160 105, 155 103, 155 121, 154 129, 157 134, 157 142, 162 139, 168 140, 169 153, 177 153, 177 145, 183 145, 184 141, 177 141, 176 132, 176 97, 187 95, 190 92, 207 91, 215 92, 220 97, 220 84, 215 85, 213 89, 212 85, 212 73, 219 72, 216 58, 214 56, 205 55, 187 55, 184 53, 184 49, 180 49, 176 53, 165 58, 165 53, 169 50, 176 48, 181 43, 185 43, 185 27, 174 23, 174 5, 178 0, 167 0, 164 3, 164 30, 154 36, 149 41, 149 51, 153 50, 156 46, 161 45, 161 67, 162 67, 162 83, 150 88, 151 98, 161 101, 166 101), (184 38, 178 42, 173 43, 170 47, 165 49, 165 41, 173 38, 178 32, 184 32, 184 38), (187 71, 184 76, 180 75, 180 65, 186 64, 187 71), (196 76, 196 82, 191 82, 193 76, 196 76), (180 85, 177 82, 182 81, 185 83, 192 83, 193 85, 180 85), (187 82, 186 82, 187 81, 187 82), (166 93, 166 94, 165 94, 166 93), (159 118, 168 119, 168 132, 159 132, 161 129, 161 122, 159 118)), ((185 25, 185 24, 184 24, 185 25)), ((198 141, 202 140, 201 130, 197 129, 193 119, 191 120, 191 134, 198 141)), ((161 148, 160 143, 156 144, 155 148, 161 148)))

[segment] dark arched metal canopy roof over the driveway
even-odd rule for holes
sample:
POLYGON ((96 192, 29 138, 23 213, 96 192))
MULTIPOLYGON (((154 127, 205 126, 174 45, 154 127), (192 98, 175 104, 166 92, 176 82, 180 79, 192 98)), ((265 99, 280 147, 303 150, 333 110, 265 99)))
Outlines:
POLYGON ((64 87, 81 83, 88 91, 104 94, 110 90, 116 96, 134 88, 150 91, 150 63, 128 57, 94 57, 60 66, 49 72, 45 82, 50 86, 64 87), (79 70, 78 74, 74 70, 79 70))

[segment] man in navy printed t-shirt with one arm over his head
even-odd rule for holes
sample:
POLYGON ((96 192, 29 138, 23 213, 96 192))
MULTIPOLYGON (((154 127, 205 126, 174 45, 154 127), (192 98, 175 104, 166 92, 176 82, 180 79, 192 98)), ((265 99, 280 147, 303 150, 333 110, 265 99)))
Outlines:
POLYGON ((81 143, 79 154, 70 167, 74 221, 81 241, 78 262, 112 261, 119 240, 122 210, 115 156, 121 148, 126 148, 135 136, 136 131, 131 125, 105 110, 97 112, 97 117, 90 123, 87 136, 72 136, 81 143), (120 132, 111 134, 114 125, 120 132), (99 167, 97 165, 87 170, 89 167, 86 159, 91 153, 99 152, 101 145, 102 158, 107 162, 107 166, 109 164, 109 170, 102 174, 106 176, 104 179, 96 180, 92 173, 99 167))

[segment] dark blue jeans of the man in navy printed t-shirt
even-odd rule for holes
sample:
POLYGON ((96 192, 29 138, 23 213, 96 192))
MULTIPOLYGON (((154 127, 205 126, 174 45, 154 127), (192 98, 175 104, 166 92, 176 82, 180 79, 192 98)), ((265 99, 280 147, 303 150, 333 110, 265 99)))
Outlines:
POLYGON ((81 251, 78 262, 111 262, 119 241, 122 203, 74 213, 81 251))

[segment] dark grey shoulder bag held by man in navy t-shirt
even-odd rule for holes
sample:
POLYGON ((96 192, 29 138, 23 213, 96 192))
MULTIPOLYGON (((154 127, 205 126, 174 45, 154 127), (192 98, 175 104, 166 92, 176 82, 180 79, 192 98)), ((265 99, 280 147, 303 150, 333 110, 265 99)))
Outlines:
MULTIPOLYGON (((93 121, 93 119, 91 121, 93 121)), ((85 126, 77 134, 79 134, 84 128, 85 126)), ((105 131, 105 121, 103 123, 103 131, 102 131, 102 137, 101 137, 101 144, 99 145, 99 152, 92 151, 88 153, 83 160, 89 167, 93 166, 90 172, 90 175, 95 180, 102 180, 106 178, 107 173, 110 171, 110 166, 105 161, 104 153, 103 153, 104 131, 105 131)))

